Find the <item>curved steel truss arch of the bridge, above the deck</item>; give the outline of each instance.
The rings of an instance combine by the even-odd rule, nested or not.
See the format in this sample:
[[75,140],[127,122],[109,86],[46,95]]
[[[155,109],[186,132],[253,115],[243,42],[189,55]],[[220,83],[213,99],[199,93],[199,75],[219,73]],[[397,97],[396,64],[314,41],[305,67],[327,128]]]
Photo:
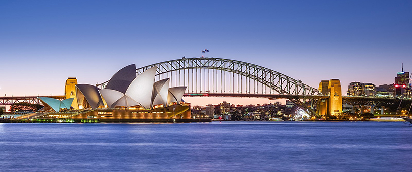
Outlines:
[[285,95],[318,95],[319,91],[299,80],[277,71],[237,60],[222,58],[182,58],[147,65],[136,69],[138,75],[145,70],[157,66],[156,76],[187,69],[214,69],[226,71],[256,80],[279,94]]

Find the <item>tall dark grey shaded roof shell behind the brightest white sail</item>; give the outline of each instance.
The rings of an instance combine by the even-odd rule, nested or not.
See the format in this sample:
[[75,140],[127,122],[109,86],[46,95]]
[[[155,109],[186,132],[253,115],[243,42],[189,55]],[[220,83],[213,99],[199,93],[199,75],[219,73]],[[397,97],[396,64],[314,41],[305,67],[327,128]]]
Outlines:
[[105,89],[126,93],[130,83],[136,78],[136,64],[128,65],[117,71],[107,83]]

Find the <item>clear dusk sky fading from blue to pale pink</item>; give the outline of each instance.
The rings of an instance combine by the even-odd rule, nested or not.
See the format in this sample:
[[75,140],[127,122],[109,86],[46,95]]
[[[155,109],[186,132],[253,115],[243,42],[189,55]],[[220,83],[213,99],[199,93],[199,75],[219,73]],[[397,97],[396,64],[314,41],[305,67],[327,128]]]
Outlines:
[[204,49],[314,88],[337,78],[345,94],[352,81],[393,83],[402,62],[412,71],[410,9],[412,1],[2,1],[0,95],[63,95],[68,77],[101,83],[129,64]]

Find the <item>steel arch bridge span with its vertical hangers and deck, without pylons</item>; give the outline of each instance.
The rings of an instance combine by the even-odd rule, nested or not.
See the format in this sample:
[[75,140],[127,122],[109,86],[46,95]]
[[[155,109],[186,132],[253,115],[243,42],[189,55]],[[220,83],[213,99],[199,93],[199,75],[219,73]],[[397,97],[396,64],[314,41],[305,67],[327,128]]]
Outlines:
[[[287,98],[312,115],[319,91],[277,71],[237,60],[182,58],[136,69],[141,74],[157,66],[156,80],[170,78],[172,87],[187,86],[185,96]],[[102,89],[108,81],[97,84]],[[312,100],[306,105],[306,100]],[[309,107],[308,107],[309,106]]]

